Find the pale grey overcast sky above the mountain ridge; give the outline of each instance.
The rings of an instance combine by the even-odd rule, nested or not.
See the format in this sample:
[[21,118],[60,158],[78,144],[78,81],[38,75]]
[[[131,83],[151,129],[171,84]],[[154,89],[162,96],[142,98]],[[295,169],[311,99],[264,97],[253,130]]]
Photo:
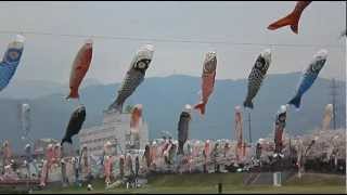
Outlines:
[[[275,44],[331,44],[321,75],[346,76],[346,2],[312,2],[303,13],[299,35],[288,27],[267,26],[286,15],[296,2],[0,2],[0,31],[97,35]],[[72,62],[86,38],[24,34],[27,38],[14,79],[67,83]],[[3,53],[11,34],[0,34]],[[216,50],[217,79],[248,76],[266,46],[204,44],[94,39],[87,78],[104,83],[124,78],[136,50],[153,43],[154,58],[146,77],[172,74],[200,76],[204,53]],[[273,47],[269,74],[300,72],[321,49]]]

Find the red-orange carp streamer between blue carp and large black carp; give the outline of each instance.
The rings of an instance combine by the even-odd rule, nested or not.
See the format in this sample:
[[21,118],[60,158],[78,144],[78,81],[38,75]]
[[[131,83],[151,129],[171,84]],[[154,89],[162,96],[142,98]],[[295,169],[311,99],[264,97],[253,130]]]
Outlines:
[[79,99],[78,88],[85,78],[93,53],[93,42],[88,39],[85,44],[79,49],[69,77],[69,94],[66,99]]

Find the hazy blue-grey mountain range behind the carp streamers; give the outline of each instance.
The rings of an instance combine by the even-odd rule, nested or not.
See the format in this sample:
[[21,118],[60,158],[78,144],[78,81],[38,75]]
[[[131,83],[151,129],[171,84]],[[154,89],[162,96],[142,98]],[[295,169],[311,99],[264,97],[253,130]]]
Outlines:
[[[285,104],[294,94],[299,73],[269,75],[257,94],[250,112],[252,136],[257,140],[273,131],[274,115],[280,105]],[[215,91],[207,104],[206,115],[201,117],[193,113],[190,138],[196,139],[233,139],[234,107],[242,105],[246,93],[246,79],[217,80]],[[331,81],[318,78],[313,87],[304,95],[300,110],[291,107],[286,132],[301,134],[321,125],[324,106],[331,103]],[[338,127],[345,123],[346,83],[338,81]],[[80,90],[80,102],[87,107],[87,120],[83,127],[100,125],[102,110],[115,99],[119,84],[94,84]],[[190,76],[169,76],[146,78],[126,104],[143,104],[144,119],[149,122],[150,138],[157,138],[160,131],[169,131],[177,136],[177,123],[184,104],[195,104],[200,100],[201,78]],[[65,132],[69,116],[77,105],[75,101],[66,102],[64,93],[54,93],[29,100],[33,110],[34,138],[61,139]],[[21,100],[0,99],[0,141],[9,138],[16,145],[21,134],[18,110]],[[248,139],[247,110],[244,112],[244,138]]]

